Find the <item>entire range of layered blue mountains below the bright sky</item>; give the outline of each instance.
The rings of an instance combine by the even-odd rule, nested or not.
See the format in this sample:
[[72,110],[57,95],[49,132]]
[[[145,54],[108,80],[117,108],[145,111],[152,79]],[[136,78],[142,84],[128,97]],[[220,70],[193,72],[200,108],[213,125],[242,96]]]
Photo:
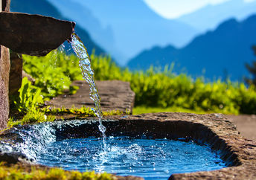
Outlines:
[[[256,12],[255,4],[229,0],[174,20],[162,18],[143,0],[12,0],[11,10],[77,22],[89,54],[93,49],[110,54],[120,65],[130,60],[131,69],[174,62],[176,72],[240,80],[256,44],[255,18],[245,19]],[[238,21],[223,22],[231,16]]]

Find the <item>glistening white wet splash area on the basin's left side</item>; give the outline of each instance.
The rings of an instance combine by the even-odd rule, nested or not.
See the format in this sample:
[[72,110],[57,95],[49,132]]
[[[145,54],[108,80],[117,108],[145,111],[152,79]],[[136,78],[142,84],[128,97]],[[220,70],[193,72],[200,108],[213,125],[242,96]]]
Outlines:
[[9,130],[7,139],[1,138],[0,152],[25,155],[35,161],[37,155],[45,152],[48,144],[56,141],[54,124],[47,122],[13,127]]

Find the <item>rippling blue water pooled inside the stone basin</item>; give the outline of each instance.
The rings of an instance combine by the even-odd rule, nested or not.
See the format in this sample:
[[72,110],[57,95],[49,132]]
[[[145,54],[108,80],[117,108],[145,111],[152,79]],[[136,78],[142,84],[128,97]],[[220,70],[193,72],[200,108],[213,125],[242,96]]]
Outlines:
[[119,176],[168,179],[173,173],[219,170],[225,167],[207,146],[167,139],[106,138],[106,149],[98,138],[55,141],[37,156],[39,164],[65,170],[95,170]]

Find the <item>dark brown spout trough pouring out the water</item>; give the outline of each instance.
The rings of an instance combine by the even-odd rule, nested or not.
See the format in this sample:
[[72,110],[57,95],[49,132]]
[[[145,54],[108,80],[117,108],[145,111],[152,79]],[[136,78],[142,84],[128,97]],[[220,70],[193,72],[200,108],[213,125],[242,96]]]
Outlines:
[[0,13],[0,45],[19,54],[45,56],[71,39],[74,22],[27,13]]

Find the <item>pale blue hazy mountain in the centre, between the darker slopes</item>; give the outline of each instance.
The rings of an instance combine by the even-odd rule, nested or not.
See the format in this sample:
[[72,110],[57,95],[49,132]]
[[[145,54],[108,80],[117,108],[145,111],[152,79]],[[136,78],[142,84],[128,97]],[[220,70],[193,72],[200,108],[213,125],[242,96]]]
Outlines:
[[[198,33],[183,22],[164,19],[143,0],[48,1],[68,18],[81,22],[95,42],[121,65],[145,48],[167,44],[181,47]],[[90,21],[90,18],[97,20]],[[99,22],[97,28],[95,22]]]

